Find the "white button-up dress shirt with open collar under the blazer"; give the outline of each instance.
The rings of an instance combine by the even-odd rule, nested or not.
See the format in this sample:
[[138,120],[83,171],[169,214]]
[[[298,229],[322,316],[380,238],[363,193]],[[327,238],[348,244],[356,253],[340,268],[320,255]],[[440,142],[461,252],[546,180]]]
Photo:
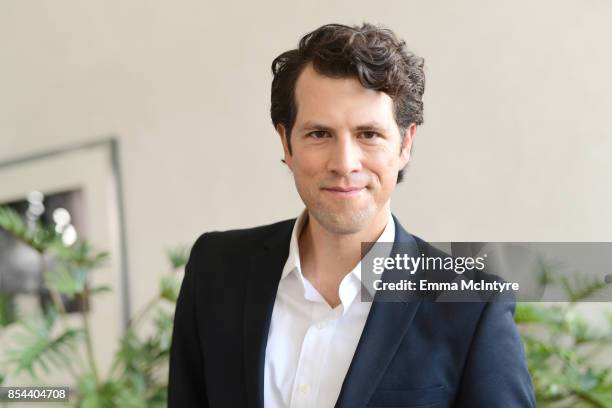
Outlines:
[[[361,302],[361,264],[340,282],[332,308],[304,277],[298,237],[308,212],[296,220],[274,302],[264,367],[266,408],[333,407],[340,395],[371,302]],[[377,242],[393,242],[389,212]]]

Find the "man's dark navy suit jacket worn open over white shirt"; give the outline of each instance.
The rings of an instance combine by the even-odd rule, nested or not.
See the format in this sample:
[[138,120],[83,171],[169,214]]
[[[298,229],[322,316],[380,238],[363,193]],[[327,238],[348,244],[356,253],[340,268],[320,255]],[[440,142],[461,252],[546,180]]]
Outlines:
[[[437,251],[394,220],[396,242]],[[198,238],[176,305],[169,407],[263,407],[267,334],[294,222]],[[375,301],[336,406],[535,407],[513,315],[514,302]]]

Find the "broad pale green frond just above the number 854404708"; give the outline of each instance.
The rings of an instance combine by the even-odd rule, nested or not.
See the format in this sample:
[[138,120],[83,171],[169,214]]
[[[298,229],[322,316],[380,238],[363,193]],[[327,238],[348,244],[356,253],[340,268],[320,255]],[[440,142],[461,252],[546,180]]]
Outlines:
[[52,331],[57,313],[23,320],[20,331],[14,335],[15,346],[6,351],[7,362],[15,367],[15,373],[27,371],[36,378],[36,371],[49,372],[51,368],[63,369],[71,364],[76,345],[83,331],[66,329],[57,336]]

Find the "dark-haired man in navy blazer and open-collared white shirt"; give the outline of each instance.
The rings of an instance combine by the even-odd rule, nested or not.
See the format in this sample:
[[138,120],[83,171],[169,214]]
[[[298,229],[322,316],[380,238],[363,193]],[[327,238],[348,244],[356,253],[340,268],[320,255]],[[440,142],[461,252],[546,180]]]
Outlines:
[[535,406],[513,303],[361,301],[361,243],[437,253],[390,211],[423,121],[423,60],[387,29],[330,24],[272,71],[306,209],[196,241],[169,406]]

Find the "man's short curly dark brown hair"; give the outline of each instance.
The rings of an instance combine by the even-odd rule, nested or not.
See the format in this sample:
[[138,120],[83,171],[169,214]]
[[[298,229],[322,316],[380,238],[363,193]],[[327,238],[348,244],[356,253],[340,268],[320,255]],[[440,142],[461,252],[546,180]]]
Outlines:
[[[368,23],[352,27],[326,24],[302,37],[297,49],[283,52],[272,61],[270,115],[275,127],[285,127],[290,154],[291,130],[297,116],[295,84],[309,63],[321,75],[355,77],[363,87],[388,94],[402,141],[411,123],[423,123],[423,58],[409,51],[388,28]],[[400,170],[397,182],[402,178]]]

